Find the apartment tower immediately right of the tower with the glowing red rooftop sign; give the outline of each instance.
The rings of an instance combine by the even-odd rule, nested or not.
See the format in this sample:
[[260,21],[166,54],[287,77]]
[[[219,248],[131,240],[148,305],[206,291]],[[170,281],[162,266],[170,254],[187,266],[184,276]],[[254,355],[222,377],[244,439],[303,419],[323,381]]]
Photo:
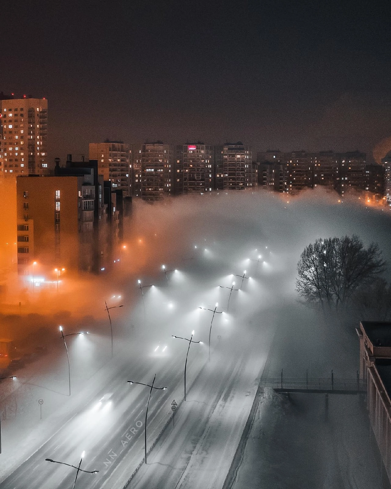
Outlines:
[[249,190],[257,186],[257,168],[252,162],[252,151],[241,142],[223,146],[223,189]]

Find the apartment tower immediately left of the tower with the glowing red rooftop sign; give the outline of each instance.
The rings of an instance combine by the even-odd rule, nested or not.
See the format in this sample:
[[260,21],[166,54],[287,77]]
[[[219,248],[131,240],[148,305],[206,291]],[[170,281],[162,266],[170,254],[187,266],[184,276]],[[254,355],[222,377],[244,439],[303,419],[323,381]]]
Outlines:
[[174,147],[161,141],[141,148],[141,198],[161,200],[174,193]]

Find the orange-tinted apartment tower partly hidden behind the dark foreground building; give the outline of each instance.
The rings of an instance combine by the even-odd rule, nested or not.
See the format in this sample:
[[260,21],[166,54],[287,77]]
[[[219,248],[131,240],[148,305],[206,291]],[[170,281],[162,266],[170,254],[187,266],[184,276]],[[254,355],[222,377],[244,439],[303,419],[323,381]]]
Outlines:
[[89,159],[98,160],[99,175],[111,182],[111,187],[130,196],[129,144],[123,141],[106,140],[104,143],[89,143]]

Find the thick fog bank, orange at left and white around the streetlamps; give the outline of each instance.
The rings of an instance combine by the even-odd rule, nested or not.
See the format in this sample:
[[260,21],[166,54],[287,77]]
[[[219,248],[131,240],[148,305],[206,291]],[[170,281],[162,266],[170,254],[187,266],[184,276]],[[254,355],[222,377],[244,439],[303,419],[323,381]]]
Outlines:
[[[45,344],[54,352],[61,346],[59,324],[67,333],[88,331],[87,348],[80,350],[84,356],[77,357],[76,343],[71,347],[72,370],[78,372],[72,382],[79,389],[110,359],[105,301],[109,308],[123,306],[110,310],[115,361],[134,368],[137,358],[145,372],[162,359],[174,372],[186,345],[172,335],[189,338],[192,330],[194,339],[204,342],[198,363],[192,357],[201,365],[212,312],[199,308],[213,310],[218,303],[222,313],[213,320],[212,356],[249,352],[259,361],[258,380],[278,376],[281,369],[287,377],[303,376],[306,369],[327,377],[333,369],[336,377],[354,378],[358,318],[324,317],[305,306],[295,290],[296,266],[304,247],[317,238],[353,234],[366,245],[377,242],[389,261],[391,215],[355,199],[338,200],[322,190],[289,198],[257,191],[183,196],[153,205],[134,200],[120,243],[126,246],[121,266],[100,277],[65,274],[58,294],[15,285],[1,305],[0,337],[21,346]],[[17,284],[15,271],[8,270],[8,277]],[[390,280],[390,269],[385,277]],[[63,355],[50,362],[63,362],[58,356]],[[47,363],[39,368],[46,375]]]

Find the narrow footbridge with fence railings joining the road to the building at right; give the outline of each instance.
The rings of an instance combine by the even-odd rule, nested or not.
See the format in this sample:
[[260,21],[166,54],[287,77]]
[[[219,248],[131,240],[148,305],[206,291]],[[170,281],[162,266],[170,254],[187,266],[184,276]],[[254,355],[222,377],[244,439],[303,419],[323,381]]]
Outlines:
[[260,387],[275,392],[304,394],[361,394],[367,392],[367,382],[356,378],[271,377],[261,378]]

